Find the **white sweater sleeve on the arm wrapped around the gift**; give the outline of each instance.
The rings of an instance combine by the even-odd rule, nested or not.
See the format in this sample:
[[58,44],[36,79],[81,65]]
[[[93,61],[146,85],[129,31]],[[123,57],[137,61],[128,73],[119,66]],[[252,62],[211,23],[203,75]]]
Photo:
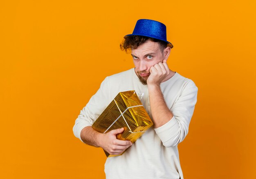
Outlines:
[[97,93],[91,97],[88,104],[80,111],[76,118],[73,133],[81,141],[81,130],[87,126],[92,126],[94,121],[99,117],[103,110],[108,106],[109,92],[108,92],[108,77],[101,83]]

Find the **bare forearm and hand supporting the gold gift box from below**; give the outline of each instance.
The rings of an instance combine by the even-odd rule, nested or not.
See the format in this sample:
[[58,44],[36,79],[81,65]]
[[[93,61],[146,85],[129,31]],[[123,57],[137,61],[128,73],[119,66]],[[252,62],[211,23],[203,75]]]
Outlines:
[[111,155],[119,155],[132,145],[131,141],[117,139],[116,135],[123,131],[124,128],[119,128],[102,134],[94,130],[91,126],[87,126],[81,131],[81,139],[88,145],[103,148]]

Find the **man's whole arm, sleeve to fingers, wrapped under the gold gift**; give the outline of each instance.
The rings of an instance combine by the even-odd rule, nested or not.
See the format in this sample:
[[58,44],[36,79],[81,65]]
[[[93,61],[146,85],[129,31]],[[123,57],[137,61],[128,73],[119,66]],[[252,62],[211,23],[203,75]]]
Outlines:
[[84,143],[101,147],[111,155],[118,155],[132,145],[130,141],[122,141],[116,138],[116,135],[122,133],[124,129],[111,130],[102,134],[92,128],[94,121],[111,100],[108,91],[108,78],[106,78],[101,83],[97,93],[91,97],[88,104],[81,110],[73,127],[73,132]]

